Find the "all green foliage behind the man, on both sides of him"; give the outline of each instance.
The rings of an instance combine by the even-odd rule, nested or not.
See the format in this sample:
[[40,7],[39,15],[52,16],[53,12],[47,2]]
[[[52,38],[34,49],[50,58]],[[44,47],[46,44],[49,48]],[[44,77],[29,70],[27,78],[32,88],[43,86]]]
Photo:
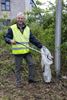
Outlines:
[[[38,3],[40,5],[40,3]],[[32,12],[27,13],[27,25],[30,26],[32,33],[40,40],[40,42],[45,45],[54,56],[55,52],[55,15],[56,15],[56,6],[51,4],[51,7],[46,10],[42,10],[40,8],[34,7]],[[67,12],[66,12],[66,5],[63,4],[63,11],[62,11],[62,37],[61,37],[61,57],[62,57],[62,67],[67,66]],[[9,51],[10,46],[5,43],[4,35],[9,26],[3,25],[6,19],[5,17],[0,19],[0,55],[3,51]],[[11,21],[10,25],[15,23],[16,20],[14,19]],[[2,51],[3,49],[3,51]],[[37,53],[33,53],[39,55]],[[38,59],[39,60],[39,59]],[[38,62],[38,61],[37,61]]]

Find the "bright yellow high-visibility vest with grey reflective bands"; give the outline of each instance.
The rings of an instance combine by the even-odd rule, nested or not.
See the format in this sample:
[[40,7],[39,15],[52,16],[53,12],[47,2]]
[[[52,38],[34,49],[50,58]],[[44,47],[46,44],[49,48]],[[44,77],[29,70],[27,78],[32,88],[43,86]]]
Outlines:
[[[23,33],[17,28],[17,25],[14,24],[11,26],[13,31],[13,39],[21,44],[13,44],[12,45],[12,54],[26,54],[29,52],[29,37],[30,37],[30,29],[28,26],[24,29]],[[25,46],[24,46],[25,45]]]

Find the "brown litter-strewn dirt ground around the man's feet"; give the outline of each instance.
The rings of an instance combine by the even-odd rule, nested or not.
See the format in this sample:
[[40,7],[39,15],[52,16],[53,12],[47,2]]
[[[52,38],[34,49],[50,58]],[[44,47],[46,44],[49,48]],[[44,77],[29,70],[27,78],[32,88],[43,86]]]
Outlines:
[[11,60],[7,54],[0,55],[0,100],[67,100],[67,79],[57,80],[52,76],[52,82],[47,84],[42,80],[41,71],[37,74],[37,83],[29,84],[26,78],[22,80],[23,87],[17,88],[12,71],[2,76]]

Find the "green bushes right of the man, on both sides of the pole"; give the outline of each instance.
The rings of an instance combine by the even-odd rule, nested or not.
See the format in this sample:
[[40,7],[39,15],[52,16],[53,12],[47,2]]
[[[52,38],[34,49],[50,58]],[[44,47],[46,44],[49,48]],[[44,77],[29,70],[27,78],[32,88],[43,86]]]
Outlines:
[[[61,28],[61,62],[62,67],[67,64],[67,7],[63,2],[62,9],[62,28]],[[31,27],[32,32],[36,37],[51,50],[55,52],[55,16],[56,6],[51,4],[51,7],[46,10],[34,8],[31,13],[28,13],[27,24]]]

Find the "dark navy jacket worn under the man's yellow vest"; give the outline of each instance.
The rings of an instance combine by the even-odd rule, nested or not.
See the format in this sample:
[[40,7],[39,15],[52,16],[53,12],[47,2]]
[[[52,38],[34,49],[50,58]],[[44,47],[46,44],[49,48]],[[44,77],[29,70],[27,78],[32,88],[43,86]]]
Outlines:
[[[19,26],[17,25],[17,28],[23,32],[23,30],[25,29],[26,25],[23,25],[22,30],[20,30]],[[5,35],[5,41],[8,44],[10,43],[10,40],[13,39],[13,31],[11,28],[8,29],[6,35]],[[30,43],[32,43],[33,45],[37,46],[38,48],[42,48],[42,44],[35,38],[35,36],[32,34],[32,32],[30,31],[30,38],[29,38]]]

